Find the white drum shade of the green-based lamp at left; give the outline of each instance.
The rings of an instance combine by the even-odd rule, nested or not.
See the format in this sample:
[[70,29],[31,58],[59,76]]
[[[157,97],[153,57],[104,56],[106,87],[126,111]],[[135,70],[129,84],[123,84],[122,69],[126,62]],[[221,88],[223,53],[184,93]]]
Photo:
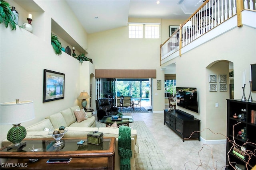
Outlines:
[[0,124],[11,125],[35,118],[33,101],[6,102],[0,104]]

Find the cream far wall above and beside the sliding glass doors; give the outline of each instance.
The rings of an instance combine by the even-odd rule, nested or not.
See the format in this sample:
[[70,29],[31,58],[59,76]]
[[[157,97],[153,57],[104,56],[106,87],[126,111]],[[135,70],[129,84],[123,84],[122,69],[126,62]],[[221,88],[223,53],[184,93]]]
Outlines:
[[[158,22],[149,20],[140,22]],[[134,22],[134,20],[132,20]],[[153,111],[164,109],[164,72],[160,70],[160,39],[129,39],[128,26],[88,35],[95,69],[156,69],[153,79]],[[156,80],[162,80],[162,90],[156,90]]]

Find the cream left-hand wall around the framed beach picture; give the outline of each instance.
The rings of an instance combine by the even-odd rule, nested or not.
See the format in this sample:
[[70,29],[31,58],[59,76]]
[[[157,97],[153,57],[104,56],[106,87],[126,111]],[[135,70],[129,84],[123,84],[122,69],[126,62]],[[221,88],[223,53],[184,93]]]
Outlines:
[[[32,13],[32,26],[33,23],[35,25],[33,33],[20,27],[11,31],[10,27],[6,29],[4,24],[0,24],[0,103],[15,99],[33,100],[36,118],[22,123],[24,127],[80,102],[76,99],[80,94],[80,63],[66,53],[62,55],[54,53],[50,42],[51,18],[54,18],[82,46],[87,46],[87,33],[74,18],[65,1],[55,1],[54,5],[52,1],[35,1],[45,12],[28,12],[15,2],[8,1],[20,14],[19,25],[25,22],[23,18],[27,18],[28,13]],[[70,17],[71,21],[63,20],[66,17]],[[38,28],[36,22],[40,23],[40,21],[43,24]],[[64,99],[42,102],[43,69],[65,74]],[[11,127],[12,125],[0,126],[0,141],[6,139]]]

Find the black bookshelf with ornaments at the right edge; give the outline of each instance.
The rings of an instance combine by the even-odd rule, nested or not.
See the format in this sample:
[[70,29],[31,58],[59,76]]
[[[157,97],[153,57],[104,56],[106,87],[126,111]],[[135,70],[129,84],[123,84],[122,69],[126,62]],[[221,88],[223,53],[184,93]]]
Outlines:
[[[246,109],[246,112],[243,112],[242,109]],[[230,139],[230,141],[227,140],[226,143],[226,170],[233,170],[233,167],[235,167],[236,164],[244,165],[244,170],[251,170],[252,167],[256,165],[255,155],[250,154],[249,160],[249,156],[245,154],[245,160],[243,160],[239,156],[236,156],[234,153],[232,153],[234,143],[238,149],[243,146],[246,148],[246,150],[250,150],[255,153],[254,150],[256,150],[256,124],[251,123],[252,110],[256,110],[256,101],[248,102],[231,99],[227,100],[227,137]],[[234,118],[233,115],[235,113],[236,115],[244,113],[246,119],[242,120],[239,118]],[[242,139],[242,137],[238,136],[238,131],[241,131],[241,129],[244,128],[246,128],[245,139]],[[248,143],[247,141],[250,143]],[[248,164],[246,164],[246,162],[248,162]]]

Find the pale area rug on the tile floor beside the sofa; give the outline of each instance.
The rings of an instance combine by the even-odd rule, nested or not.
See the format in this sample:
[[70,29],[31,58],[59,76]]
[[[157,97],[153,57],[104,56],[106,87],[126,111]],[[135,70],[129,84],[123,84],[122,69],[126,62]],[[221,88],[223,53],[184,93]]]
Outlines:
[[[96,127],[105,127],[105,124],[97,121]],[[140,148],[140,154],[135,158],[136,170],[172,170],[144,121],[134,121],[130,123],[130,127],[137,130]]]

